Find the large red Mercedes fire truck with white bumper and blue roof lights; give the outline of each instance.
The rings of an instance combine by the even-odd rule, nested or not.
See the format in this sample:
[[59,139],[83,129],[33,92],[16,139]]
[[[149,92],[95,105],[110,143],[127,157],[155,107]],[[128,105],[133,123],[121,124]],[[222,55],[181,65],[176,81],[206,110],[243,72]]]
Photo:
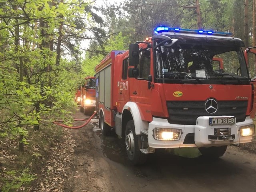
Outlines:
[[102,134],[124,138],[132,164],[163,148],[218,158],[251,142],[256,96],[243,47],[230,33],[161,26],[111,51],[95,68]]

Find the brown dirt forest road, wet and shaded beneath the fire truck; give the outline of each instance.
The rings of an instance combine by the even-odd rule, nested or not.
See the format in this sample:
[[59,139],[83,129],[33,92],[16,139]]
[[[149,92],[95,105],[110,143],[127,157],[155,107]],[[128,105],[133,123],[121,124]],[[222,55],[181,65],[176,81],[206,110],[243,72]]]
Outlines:
[[[86,118],[77,112],[76,118]],[[144,166],[132,166],[124,140],[104,137],[94,120],[71,130],[76,146],[71,158],[65,192],[254,192],[256,155],[228,147],[225,156],[209,161],[166,152],[151,154]],[[193,153],[196,154],[196,153]],[[198,153],[199,154],[199,153]]]

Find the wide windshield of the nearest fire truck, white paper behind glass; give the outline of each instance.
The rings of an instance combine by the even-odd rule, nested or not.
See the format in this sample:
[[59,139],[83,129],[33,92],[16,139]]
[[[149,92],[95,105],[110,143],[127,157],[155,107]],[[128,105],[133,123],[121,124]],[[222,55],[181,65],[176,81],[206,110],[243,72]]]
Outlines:
[[156,82],[248,83],[240,47],[177,43],[171,47],[156,46],[154,57]]

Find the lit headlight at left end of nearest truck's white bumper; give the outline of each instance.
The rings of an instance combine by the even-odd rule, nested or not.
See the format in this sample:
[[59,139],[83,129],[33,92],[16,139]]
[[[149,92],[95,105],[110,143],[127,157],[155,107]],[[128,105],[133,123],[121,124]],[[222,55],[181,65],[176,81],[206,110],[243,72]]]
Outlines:
[[154,128],[154,139],[161,141],[176,141],[180,139],[181,129]]

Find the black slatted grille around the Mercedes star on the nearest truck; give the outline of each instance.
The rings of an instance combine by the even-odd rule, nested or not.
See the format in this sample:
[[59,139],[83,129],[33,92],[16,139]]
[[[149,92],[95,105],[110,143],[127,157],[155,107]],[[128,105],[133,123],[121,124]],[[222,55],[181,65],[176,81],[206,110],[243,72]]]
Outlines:
[[248,101],[218,101],[215,114],[208,114],[205,101],[167,101],[169,123],[195,125],[199,116],[234,116],[236,122],[243,122],[246,118]]

